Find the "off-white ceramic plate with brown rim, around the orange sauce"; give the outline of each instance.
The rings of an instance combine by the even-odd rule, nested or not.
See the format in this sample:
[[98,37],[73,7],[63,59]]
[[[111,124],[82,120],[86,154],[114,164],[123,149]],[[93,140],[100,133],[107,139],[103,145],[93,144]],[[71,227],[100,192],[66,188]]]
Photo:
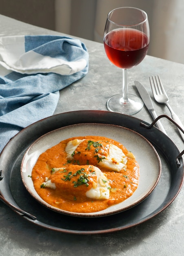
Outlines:
[[[37,162],[39,155],[64,139],[90,135],[105,136],[107,138],[114,139],[123,144],[135,155],[136,161],[140,165],[140,180],[138,188],[134,194],[125,201],[111,206],[103,211],[94,213],[74,213],[51,206],[40,198],[35,191],[32,179],[30,178],[33,166]],[[111,124],[74,124],[48,132],[37,139],[28,148],[24,154],[21,164],[22,181],[27,191],[33,196],[33,198],[49,209],[59,213],[80,217],[107,216],[134,207],[136,204],[147,198],[147,196],[153,191],[159,181],[160,174],[160,157],[150,142],[133,130]]]

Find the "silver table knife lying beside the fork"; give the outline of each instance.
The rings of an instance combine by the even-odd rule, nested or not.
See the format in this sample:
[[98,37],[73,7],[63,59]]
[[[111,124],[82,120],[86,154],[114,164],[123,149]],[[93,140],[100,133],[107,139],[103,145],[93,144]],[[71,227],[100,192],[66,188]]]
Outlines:
[[[140,97],[142,98],[142,101],[145,103],[145,106],[147,107],[151,117],[153,118],[153,120],[156,119],[158,116],[156,115],[156,112],[154,110],[153,103],[151,101],[151,97],[149,96],[148,91],[146,90],[144,85],[142,85],[138,81],[134,81],[134,83],[135,83],[136,88],[140,94]],[[162,126],[160,120],[158,120],[156,122],[155,126],[166,134],[166,131],[165,131],[164,127]]]

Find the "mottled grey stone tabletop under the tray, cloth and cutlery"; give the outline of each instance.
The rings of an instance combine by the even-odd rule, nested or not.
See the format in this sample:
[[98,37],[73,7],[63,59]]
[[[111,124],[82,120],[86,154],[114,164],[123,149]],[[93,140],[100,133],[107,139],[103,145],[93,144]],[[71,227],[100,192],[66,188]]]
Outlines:
[[[0,15],[0,36],[58,34]],[[107,99],[121,92],[122,72],[110,63],[101,43],[81,39],[88,48],[88,74],[61,90],[55,114],[73,110],[107,110]],[[128,71],[129,92],[138,93],[134,80],[149,91],[149,76],[159,74],[173,110],[184,124],[184,65],[146,56],[137,67]],[[158,115],[170,116],[164,105],[153,102]],[[151,123],[145,108],[134,115]],[[162,124],[179,150],[184,143],[177,129],[167,119]],[[0,255],[184,255],[184,188],[177,198],[160,214],[122,231],[109,234],[74,235],[56,232],[27,222],[0,201]]]

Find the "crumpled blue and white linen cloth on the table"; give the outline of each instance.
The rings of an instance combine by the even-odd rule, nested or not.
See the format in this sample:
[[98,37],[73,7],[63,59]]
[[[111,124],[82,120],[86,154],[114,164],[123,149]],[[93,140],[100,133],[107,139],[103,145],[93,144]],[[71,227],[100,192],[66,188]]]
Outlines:
[[0,152],[22,128],[53,115],[59,90],[87,74],[88,57],[69,37],[0,38]]

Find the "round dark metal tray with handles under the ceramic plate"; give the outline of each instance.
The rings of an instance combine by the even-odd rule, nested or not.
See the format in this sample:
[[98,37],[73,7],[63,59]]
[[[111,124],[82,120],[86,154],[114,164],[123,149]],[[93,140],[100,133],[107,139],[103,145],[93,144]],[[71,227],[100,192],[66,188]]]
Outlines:
[[[156,148],[162,162],[162,174],[156,188],[143,202],[115,216],[81,218],[51,211],[26,191],[20,176],[20,164],[27,148],[47,132],[81,123],[115,124],[129,128]],[[99,110],[66,112],[37,121],[13,137],[0,155],[0,200],[29,222],[64,233],[103,234],[141,224],[168,207],[184,181],[183,152],[180,153],[173,141],[153,124],[149,126],[135,117]]]

